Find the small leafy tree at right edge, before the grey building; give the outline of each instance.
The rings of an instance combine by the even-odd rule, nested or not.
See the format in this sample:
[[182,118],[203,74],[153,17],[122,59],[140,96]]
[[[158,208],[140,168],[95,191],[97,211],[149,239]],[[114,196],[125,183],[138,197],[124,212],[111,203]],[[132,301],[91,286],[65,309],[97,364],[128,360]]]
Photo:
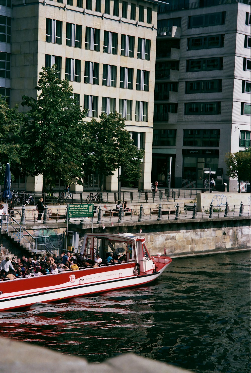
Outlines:
[[226,174],[231,179],[238,179],[240,192],[240,182],[250,182],[250,148],[236,153],[227,153],[225,163]]

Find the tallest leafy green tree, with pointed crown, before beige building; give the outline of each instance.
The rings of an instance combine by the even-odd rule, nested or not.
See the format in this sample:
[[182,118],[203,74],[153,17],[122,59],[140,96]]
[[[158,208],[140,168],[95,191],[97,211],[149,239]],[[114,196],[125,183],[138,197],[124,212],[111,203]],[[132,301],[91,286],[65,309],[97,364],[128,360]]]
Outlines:
[[29,157],[23,160],[26,173],[43,175],[45,185],[55,186],[57,179],[70,184],[81,178],[83,117],[73,99],[68,80],[58,78],[56,65],[42,68],[39,73],[37,99],[23,96],[22,106],[28,106],[29,118],[22,131],[23,140],[29,141]]

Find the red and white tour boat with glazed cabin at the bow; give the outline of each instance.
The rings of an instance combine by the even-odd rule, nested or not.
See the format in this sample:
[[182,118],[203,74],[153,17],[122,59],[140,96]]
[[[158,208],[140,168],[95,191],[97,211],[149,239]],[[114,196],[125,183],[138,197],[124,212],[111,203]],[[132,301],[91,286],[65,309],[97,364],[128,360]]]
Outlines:
[[4,279],[0,281],[0,311],[144,285],[155,280],[172,261],[169,257],[151,257],[144,238],[130,233],[87,233],[83,253],[92,260],[96,254],[102,259],[109,253],[125,257],[121,262],[55,275]]

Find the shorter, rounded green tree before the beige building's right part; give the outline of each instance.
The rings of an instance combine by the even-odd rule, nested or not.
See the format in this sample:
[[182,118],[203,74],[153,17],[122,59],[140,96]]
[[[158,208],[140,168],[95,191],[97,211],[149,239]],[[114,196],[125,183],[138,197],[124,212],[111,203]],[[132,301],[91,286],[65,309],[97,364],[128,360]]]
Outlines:
[[143,150],[133,144],[130,133],[124,129],[125,120],[117,112],[102,113],[100,121],[93,118],[85,127],[83,141],[83,169],[85,174],[99,172],[100,190],[103,190],[104,177],[113,175],[123,166],[121,181],[131,185],[141,176]]

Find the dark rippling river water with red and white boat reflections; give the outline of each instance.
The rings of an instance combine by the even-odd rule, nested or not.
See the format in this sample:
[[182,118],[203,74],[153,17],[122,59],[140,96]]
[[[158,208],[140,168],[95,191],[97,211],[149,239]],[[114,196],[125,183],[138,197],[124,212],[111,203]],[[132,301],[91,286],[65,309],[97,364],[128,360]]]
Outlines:
[[101,362],[124,352],[249,373],[250,252],[174,259],[152,285],[0,313],[0,336]]

